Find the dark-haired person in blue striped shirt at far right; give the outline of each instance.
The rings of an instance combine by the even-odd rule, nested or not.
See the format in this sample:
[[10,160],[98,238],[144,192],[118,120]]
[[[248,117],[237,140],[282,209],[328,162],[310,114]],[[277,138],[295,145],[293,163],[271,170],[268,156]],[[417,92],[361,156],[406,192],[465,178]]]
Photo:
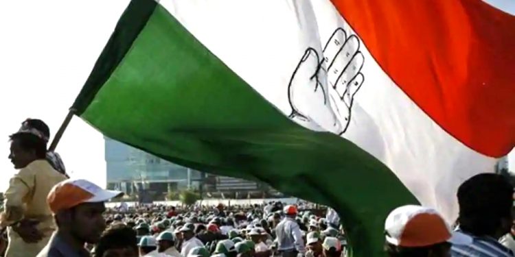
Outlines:
[[499,238],[510,232],[513,223],[514,190],[507,178],[494,173],[481,173],[458,188],[458,226],[451,255],[512,257],[512,250]]

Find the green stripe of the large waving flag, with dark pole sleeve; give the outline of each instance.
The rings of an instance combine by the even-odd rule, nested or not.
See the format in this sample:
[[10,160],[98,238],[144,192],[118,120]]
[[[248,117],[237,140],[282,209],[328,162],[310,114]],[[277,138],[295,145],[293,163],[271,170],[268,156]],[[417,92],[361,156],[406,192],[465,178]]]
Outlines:
[[73,108],[165,160],[334,207],[356,256],[382,256],[387,213],[416,203],[367,152],[290,121],[152,0],[130,3]]

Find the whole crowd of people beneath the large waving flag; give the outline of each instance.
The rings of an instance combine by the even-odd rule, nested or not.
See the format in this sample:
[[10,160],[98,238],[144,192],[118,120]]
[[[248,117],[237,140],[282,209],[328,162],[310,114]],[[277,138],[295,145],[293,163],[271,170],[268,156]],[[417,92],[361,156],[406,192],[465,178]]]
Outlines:
[[[137,206],[106,209],[122,195],[70,179],[47,151],[49,129],[28,119],[10,136],[10,180],[0,227],[5,257],[341,257],[345,230],[334,210],[304,205]],[[482,173],[457,191],[453,229],[424,206],[400,206],[385,217],[385,255],[514,257],[514,188],[502,175]]]

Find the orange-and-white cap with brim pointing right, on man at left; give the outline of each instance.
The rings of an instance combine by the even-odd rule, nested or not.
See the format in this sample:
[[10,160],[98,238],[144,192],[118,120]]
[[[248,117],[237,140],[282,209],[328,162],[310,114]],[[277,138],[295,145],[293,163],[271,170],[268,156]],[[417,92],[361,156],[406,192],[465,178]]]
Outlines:
[[47,202],[50,210],[57,213],[83,203],[108,201],[123,194],[120,191],[102,189],[88,180],[68,179],[52,188],[47,196]]

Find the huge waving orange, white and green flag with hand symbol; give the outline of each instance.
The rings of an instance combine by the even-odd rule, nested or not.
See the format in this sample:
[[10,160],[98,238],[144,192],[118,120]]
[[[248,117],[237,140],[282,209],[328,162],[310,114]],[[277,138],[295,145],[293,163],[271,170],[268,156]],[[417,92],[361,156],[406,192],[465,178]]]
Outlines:
[[515,144],[515,17],[479,0],[132,1],[73,110],[186,167],[332,206],[354,254]]

